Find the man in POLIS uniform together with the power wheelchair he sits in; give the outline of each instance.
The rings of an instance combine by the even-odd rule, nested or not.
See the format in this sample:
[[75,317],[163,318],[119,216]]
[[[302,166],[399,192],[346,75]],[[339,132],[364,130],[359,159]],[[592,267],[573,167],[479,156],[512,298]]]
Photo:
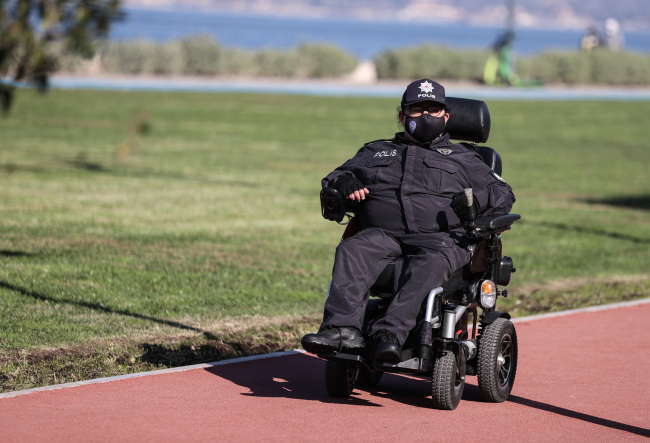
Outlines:
[[422,79],[406,88],[399,120],[403,133],[367,143],[322,181],[323,216],[355,216],[336,250],[321,328],[302,345],[327,360],[334,397],[405,372],[431,376],[436,408],[456,408],[466,375],[485,400],[503,402],[518,351],[509,314],[495,310],[507,296],[497,285],[515,272],[501,234],[520,217],[509,214],[515,197],[501,157],[476,144],[489,136],[487,105]]

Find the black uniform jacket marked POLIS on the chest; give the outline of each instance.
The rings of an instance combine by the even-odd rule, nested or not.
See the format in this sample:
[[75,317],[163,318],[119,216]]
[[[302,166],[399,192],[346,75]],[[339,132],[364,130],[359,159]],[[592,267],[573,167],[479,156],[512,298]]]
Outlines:
[[355,176],[370,194],[355,212],[361,229],[377,227],[394,234],[463,231],[449,204],[453,195],[472,188],[480,215],[507,214],[515,196],[508,184],[478,153],[449,141],[449,134],[421,145],[404,139],[364,145],[322,180],[336,187],[342,176]]

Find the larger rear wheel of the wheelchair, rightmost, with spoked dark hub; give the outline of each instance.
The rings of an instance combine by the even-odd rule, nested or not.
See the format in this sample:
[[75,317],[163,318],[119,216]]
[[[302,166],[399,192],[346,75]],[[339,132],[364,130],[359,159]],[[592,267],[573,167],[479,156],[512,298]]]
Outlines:
[[517,331],[510,320],[499,318],[483,329],[477,361],[481,397],[494,403],[506,401],[517,375]]

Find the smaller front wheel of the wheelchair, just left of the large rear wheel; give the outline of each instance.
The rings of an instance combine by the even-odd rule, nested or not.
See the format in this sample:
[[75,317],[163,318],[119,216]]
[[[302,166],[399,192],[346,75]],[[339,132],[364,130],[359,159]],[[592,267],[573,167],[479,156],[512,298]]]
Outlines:
[[431,379],[433,407],[448,411],[456,409],[464,389],[465,381],[460,379],[456,355],[453,352],[447,352],[436,358]]

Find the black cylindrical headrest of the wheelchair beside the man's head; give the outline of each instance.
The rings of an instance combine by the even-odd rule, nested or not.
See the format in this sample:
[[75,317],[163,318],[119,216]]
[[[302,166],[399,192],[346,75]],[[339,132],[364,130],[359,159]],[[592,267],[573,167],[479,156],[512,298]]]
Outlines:
[[453,140],[485,143],[490,136],[490,111],[481,100],[447,97],[449,121],[445,130]]

